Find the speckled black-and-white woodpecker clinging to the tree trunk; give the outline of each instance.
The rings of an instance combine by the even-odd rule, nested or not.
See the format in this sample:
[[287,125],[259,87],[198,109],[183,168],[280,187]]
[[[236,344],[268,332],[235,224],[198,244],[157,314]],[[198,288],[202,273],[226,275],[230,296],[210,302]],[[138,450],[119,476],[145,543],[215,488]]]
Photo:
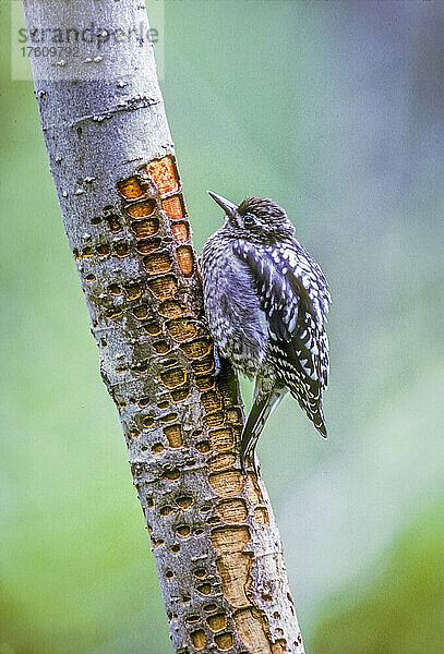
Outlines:
[[255,379],[240,445],[242,470],[245,463],[255,470],[257,439],[288,391],[327,436],[322,391],[328,377],[324,324],[331,294],[278,204],[248,197],[237,206],[208,194],[226,216],[201,258],[206,322],[216,355]]

